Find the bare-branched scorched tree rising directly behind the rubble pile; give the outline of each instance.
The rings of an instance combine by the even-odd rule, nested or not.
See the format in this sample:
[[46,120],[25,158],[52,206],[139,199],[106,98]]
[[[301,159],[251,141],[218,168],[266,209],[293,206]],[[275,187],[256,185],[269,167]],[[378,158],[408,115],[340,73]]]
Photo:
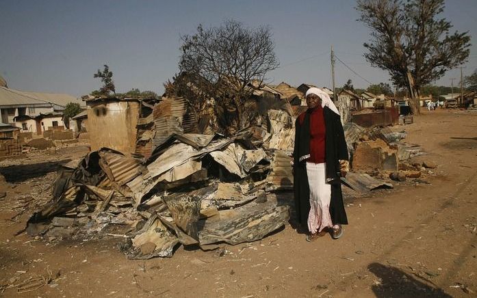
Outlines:
[[222,126],[232,128],[229,133],[243,128],[244,104],[253,92],[248,84],[263,84],[266,74],[279,66],[270,27],[248,28],[227,20],[220,27],[198,25],[194,35],[181,36],[181,40],[179,81],[170,87],[180,87],[178,93],[195,94],[190,100],[214,98],[218,113],[227,119]]

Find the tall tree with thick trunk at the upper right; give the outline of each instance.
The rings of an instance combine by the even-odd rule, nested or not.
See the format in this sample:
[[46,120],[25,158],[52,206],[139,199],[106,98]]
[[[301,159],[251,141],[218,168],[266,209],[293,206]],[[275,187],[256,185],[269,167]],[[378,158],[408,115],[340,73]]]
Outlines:
[[411,111],[420,113],[420,87],[441,78],[469,56],[467,32],[450,33],[443,0],[358,0],[359,21],[371,29],[365,58],[407,87]]

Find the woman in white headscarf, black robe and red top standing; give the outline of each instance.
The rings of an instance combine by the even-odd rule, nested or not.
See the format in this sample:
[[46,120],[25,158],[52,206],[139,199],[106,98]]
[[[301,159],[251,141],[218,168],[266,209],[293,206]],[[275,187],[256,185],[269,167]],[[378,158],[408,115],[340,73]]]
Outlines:
[[341,176],[348,172],[348,148],[339,112],[331,98],[312,87],[308,110],[296,119],[294,195],[298,221],[307,227],[307,241],[331,229],[333,239],[348,224],[341,194]]

